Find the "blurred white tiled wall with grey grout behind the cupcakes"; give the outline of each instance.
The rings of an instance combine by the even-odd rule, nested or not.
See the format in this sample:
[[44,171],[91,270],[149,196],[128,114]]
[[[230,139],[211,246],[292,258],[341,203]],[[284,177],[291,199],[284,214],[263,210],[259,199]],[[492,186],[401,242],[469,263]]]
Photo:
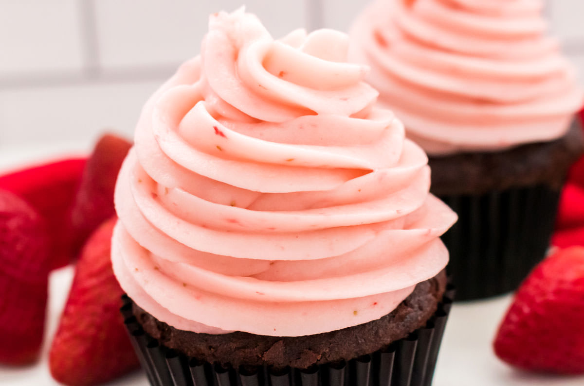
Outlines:
[[[274,37],[346,31],[364,0],[247,0]],[[147,97],[199,52],[207,16],[242,0],[0,0],[0,154],[131,136]],[[552,33],[584,74],[584,0],[548,0]],[[580,76],[580,81],[584,86]]]

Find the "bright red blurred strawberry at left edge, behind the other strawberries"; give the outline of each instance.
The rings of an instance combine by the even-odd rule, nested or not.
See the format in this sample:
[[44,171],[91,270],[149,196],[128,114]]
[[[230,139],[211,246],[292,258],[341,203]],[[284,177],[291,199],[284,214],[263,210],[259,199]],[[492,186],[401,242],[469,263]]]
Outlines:
[[24,198],[49,225],[52,268],[60,268],[71,261],[69,208],[84,167],[85,159],[75,158],[0,176],[0,188]]

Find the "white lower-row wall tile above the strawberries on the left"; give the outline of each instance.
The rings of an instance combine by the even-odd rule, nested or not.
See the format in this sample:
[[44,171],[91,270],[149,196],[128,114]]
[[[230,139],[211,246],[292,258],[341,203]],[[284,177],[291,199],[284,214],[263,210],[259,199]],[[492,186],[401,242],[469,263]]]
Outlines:
[[91,143],[104,131],[131,138],[162,79],[0,91],[0,149],[28,143]]

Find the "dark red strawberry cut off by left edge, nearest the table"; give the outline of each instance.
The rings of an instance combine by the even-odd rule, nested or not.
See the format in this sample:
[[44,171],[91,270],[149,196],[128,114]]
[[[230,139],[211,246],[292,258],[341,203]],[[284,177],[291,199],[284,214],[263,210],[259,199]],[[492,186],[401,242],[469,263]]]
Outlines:
[[44,219],[23,199],[0,190],[0,363],[27,364],[39,355],[49,256]]

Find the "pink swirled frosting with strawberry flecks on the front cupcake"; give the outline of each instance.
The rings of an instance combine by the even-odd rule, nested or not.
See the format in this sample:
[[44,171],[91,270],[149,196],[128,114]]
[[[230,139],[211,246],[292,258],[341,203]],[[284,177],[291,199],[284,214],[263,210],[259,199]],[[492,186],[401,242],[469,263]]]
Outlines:
[[347,45],[211,17],[116,186],[113,267],[139,306],[188,331],[311,335],[391,313],[446,266],[456,215]]

